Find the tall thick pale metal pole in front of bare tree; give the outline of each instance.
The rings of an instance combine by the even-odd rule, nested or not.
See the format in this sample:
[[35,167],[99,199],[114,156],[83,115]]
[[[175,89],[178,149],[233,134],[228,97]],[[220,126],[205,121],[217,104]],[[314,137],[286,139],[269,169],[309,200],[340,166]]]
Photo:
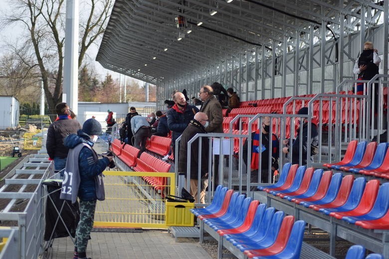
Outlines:
[[66,0],[63,92],[66,103],[78,113],[78,14],[79,0]]

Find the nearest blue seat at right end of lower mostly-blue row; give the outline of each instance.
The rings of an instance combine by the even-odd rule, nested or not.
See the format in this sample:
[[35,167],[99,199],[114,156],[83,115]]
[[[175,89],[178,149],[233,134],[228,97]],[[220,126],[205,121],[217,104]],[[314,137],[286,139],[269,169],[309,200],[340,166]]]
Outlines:
[[304,229],[305,221],[296,221],[293,224],[288,243],[281,253],[273,256],[253,257],[253,259],[299,259],[301,254],[301,247],[303,245]]

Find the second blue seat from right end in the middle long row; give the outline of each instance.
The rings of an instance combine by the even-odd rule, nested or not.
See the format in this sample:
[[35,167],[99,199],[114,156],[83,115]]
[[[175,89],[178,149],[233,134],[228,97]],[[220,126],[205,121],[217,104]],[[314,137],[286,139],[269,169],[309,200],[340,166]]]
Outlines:
[[337,208],[320,209],[319,211],[329,215],[331,212],[342,212],[355,209],[361,201],[362,194],[366,185],[365,177],[358,177],[354,180],[353,187],[351,188],[349,198],[346,203]]

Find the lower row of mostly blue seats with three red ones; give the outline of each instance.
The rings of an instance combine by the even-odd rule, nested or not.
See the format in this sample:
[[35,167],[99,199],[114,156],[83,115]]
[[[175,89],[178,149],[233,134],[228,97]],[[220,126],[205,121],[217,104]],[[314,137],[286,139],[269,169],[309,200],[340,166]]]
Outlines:
[[305,222],[294,222],[294,216],[259,205],[244,194],[218,186],[212,203],[192,212],[249,258],[300,257]]

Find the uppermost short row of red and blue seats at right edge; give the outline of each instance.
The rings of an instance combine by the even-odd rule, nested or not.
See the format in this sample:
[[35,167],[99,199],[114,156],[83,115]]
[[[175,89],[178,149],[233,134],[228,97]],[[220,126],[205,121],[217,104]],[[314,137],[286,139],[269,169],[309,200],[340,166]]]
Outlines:
[[389,143],[352,140],[340,162],[325,163],[325,167],[335,170],[365,174],[389,179]]

